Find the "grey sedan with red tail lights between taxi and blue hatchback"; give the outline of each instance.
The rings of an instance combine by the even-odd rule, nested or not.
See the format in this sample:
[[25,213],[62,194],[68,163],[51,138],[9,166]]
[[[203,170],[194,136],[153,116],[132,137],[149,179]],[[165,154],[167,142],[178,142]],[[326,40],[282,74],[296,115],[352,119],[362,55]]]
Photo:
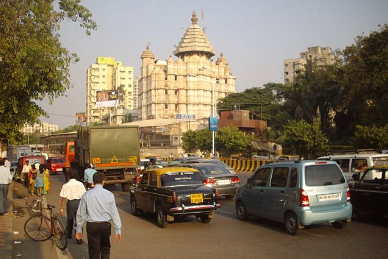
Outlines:
[[200,172],[200,177],[205,185],[215,188],[220,196],[227,199],[233,198],[237,188],[240,187],[240,179],[230,171],[213,163],[183,164]]

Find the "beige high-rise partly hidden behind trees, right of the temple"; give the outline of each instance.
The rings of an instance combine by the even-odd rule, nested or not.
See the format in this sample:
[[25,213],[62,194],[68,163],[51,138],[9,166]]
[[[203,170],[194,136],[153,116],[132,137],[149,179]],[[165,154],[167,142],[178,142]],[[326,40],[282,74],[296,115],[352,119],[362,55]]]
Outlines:
[[284,60],[284,83],[292,83],[294,78],[304,71],[307,61],[311,60],[318,66],[331,65],[335,61],[335,56],[330,47],[310,47],[307,51],[300,53],[300,58]]

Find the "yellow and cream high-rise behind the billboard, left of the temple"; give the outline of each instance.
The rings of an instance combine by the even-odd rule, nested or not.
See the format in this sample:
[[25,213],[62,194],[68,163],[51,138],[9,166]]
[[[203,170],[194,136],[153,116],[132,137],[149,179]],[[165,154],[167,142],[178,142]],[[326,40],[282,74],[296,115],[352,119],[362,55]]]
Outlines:
[[111,107],[97,107],[97,91],[118,90],[121,109],[134,109],[134,68],[123,66],[114,57],[97,57],[86,72],[86,123],[102,122],[105,114],[112,112]]

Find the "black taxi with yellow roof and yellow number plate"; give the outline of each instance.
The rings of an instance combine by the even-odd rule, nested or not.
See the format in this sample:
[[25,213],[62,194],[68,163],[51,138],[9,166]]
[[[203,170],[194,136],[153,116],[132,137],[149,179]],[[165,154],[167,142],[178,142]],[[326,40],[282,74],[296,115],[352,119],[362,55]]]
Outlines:
[[196,169],[184,167],[153,168],[146,170],[130,190],[131,212],[156,214],[157,225],[165,228],[178,216],[196,216],[209,223],[215,211],[218,193],[205,186]]

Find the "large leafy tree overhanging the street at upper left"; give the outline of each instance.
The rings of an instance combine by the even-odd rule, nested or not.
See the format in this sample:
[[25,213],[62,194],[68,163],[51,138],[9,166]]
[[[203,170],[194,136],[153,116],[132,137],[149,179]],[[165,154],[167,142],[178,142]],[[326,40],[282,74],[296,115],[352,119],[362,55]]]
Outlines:
[[[80,0],[4,0],[0,5],[0,141],[15,143],[25,124],[47,113],[36,103],[63,96],[70,87],[69,65],[78,57],[59,40],[64,19],[96,29]],[[55,5],[55,7],[54,7]]]

